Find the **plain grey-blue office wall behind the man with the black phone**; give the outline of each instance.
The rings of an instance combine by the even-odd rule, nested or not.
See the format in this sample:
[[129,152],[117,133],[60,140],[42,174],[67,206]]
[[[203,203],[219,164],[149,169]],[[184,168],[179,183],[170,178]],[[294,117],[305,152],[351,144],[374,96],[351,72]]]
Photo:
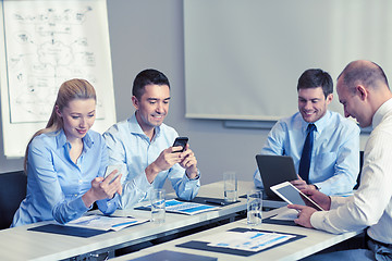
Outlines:
[[[240,179],[252,181],[255,154],[268,130],[225,128],[222,121],[185,119],[182,8],[182,0],[108,1],[118,121],[133,113],[131,87],[134,76],[146,67],[161,70],[172,86],[166,123],[174,126],[180,135],[189,137],[203,175],[201,184],[221,181],[224,171],[235,171]],[[225,99],[224,94],[217,99]],[[235,101],[226,102],[235,107]],[[1,139],[0,146],[0,172],[21,170],[23,160],[5,159]]]

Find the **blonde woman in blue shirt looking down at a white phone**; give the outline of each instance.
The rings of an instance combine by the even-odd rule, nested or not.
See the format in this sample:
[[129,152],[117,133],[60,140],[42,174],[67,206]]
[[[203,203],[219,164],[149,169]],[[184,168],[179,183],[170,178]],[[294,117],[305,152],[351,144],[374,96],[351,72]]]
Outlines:
[[90,129],[96,117],[96,92],[85,79],[63,83],[47,127],[26,148],[27,196],[11,226],[79,217],[94,202],[111,214],[122,192],[121,175],[103,178],[108,152],[100,134]]

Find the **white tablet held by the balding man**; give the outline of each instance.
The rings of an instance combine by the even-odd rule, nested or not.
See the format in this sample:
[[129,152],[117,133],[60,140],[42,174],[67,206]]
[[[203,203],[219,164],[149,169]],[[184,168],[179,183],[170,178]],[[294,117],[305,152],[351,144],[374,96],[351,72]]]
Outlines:
[[271,187],[271,190],[290,204],[310,206],[316,210],[323,211],[320,206],[318,206],[315,201],[313,201],[308,196],[303,194],[290,182],[274,185]]

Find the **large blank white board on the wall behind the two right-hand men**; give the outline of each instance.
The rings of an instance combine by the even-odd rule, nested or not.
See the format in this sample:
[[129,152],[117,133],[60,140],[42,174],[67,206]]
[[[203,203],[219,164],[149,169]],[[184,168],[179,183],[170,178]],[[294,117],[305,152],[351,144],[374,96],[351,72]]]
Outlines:
[[[275,121],[297,111],[308,69],[354,60],[391,79],[390,0],[184,0],[186,117]],[[330,110],[343,113],[334,92]]]

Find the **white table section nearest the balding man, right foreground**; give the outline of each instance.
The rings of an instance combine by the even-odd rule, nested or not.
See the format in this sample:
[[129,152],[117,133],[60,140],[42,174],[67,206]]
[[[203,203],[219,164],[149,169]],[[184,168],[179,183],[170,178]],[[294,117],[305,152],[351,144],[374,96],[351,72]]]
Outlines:
[[[271,210],[268,212],[262,213],[262,217],[269,217],[274,214],[277,214],[280,211],[283,211],[286,209],[285,207],[281,209]],[[229,254],[229,253],[222,253],[222,252],[213,252],[208,250],[197,250],[197,249],[191,249],[191,248],[183,248],[177,247],[179,244],[188,243],[191,240],[199,240],[203,241],[204,237],[208,237],[213,234],[218,234],[221,232],[229,231],[231,228],[235,227],[244,227],[248,228],[246,224],[246,219],[240,220],[236,222],[232,222],[222,226],[218,226],[211,229],[207,229],[200,233],[196,233],[189,236],[181,237],[175,240],[167,241],[154,247],[142,249],[137,252],[124,254],[118,258],[112,259],[113,261],[122,261],[122,260],[133,260],[135,258],[145,257],[149,253],[158,252],[161,250],[170,250],[170,251],[176,251],[176,252],[184,252],[184,253],[192,253],[192,254],[198,254],[198,256],[206,256],[206,257],[213,257],[217,258],[218,261],[252,261],[252,260],[298,260],[305,257],[308,257],[313,253],[316,253],[320,250],[327,249],[331,246],[334,246],[339,243],[342,243],[348,238],[352,238],[362,232],[350,232],[341,235],[334,235],[321,231],[305,228],[301,226],[290,226],[290,225],[277,225],[277,224],[261,224],[256,229],[261,231],[270,231],[270,232],[277,232],[277,233],[290,233],[290,234],[297,234],[303,235],[306,237],[299,238],[294,241],[286,243],[281,246],[277,246],[271,249],[267,249],[265,251],[255,253],[249,257],[242,257],[242,256],[235,256],[235,254]]]

